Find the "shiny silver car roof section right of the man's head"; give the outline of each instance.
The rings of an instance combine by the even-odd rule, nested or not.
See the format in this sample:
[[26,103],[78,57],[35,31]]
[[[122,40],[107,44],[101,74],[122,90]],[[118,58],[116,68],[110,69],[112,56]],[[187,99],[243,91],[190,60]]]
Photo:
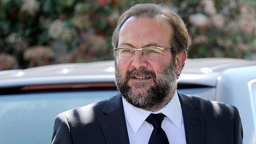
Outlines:
[[256,60],[235,58],[200,58],[188,59],[184,70],[178,79],[178,84],[193,86],[215,87],[217,76],[227,69],[256,65]]

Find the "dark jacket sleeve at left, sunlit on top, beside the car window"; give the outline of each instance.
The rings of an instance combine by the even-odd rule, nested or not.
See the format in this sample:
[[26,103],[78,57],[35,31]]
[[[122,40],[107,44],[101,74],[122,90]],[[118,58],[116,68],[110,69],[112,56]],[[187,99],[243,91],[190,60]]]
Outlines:
[[60,113],[55,119],[53,126],[52,144],[72,144],[71,132],[68,120],[65,115]]

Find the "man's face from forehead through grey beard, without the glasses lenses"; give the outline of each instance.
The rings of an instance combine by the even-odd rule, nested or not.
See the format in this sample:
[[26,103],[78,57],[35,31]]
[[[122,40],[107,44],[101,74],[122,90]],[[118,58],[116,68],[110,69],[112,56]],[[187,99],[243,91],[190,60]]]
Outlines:
[[[163,17],[130,17],[121,27],[118,47],[170,47],[173,30]],[[136,107],[151,110],[170,100],[177,87],[175,57],[164,50],[149,59],[136,51],[133,57],[116,57],[116,85]],[[168,102],[167,102],[168,103]]]

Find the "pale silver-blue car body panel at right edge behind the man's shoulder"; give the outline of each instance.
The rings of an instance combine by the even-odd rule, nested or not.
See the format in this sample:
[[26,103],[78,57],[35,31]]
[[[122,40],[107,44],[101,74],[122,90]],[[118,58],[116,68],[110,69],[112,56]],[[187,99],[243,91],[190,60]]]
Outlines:
[[[238,107],[245,129],[244,143],[256,143],[256,95],[249,95],[248,85],[256,79],[256,66],[226,69],[217,79],[215,100]],[[256,87],[253,90],[256,91]]]

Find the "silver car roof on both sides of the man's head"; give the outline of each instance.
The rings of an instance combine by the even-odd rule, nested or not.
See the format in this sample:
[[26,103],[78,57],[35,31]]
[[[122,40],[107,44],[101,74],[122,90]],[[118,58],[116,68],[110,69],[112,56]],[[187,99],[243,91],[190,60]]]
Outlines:
[[[220,72],[249,65],[256,65],[256,61],[231,58],[188,59],[178,82],[181,85],[214,87]],[[65,63],[0,72],[0,88],[86,82],[114,82],[114,60]]]

